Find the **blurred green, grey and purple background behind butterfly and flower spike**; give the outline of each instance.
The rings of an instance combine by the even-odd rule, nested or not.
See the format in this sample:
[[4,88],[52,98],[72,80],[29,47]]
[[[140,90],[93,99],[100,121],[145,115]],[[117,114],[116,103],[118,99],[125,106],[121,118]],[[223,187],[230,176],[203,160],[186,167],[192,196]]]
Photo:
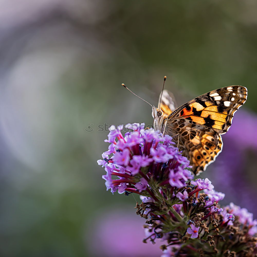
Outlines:
[[121,83],[157,104],[164,75],[179,105],[248,88],[201,177],[257,217],[256,1],[0,2],[0,256],[160,256],[96,161],[98,125],[152,123]]

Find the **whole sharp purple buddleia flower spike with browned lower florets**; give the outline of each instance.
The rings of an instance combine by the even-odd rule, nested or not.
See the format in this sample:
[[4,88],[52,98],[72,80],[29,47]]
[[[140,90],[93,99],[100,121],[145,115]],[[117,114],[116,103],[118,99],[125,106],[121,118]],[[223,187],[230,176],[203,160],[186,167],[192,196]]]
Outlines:
[[257,253],[257,220],[245,208],[221,208],[225,194],[216,192],[208,178],[192,180],[189,161],[171,136],[145,130],[143,123],[126,128],[131,131],[124,136],[123,126],[109,128],[105,142],[110,145],[98,164],[105,168],[107,190],[141,195],[136,214],[146,219],[143,242],[160,238],[163,257],[216,256],[218,249],[222,256]]

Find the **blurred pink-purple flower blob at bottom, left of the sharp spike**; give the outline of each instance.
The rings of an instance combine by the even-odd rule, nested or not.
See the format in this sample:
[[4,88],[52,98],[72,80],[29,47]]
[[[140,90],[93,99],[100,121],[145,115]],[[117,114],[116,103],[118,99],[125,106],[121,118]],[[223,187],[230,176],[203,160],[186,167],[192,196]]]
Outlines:
[[143,243],[145,237],[143,221],[134,216],[129,208],[113,210],[95,219],[93,227],[88,229],[87,247],[95,257],[156,257],[162,254],[156,244]]

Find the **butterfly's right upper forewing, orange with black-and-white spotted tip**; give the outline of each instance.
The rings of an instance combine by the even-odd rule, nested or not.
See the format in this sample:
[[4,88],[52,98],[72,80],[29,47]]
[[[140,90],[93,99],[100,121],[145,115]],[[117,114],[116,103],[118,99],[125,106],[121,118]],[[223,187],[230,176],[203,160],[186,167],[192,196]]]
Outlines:
[[246,98],[245,87],[223,87],[180,106],[167,119],[187,118],[192,124],[204,125],[224,134],[231,126],[234,113],[245,103]]

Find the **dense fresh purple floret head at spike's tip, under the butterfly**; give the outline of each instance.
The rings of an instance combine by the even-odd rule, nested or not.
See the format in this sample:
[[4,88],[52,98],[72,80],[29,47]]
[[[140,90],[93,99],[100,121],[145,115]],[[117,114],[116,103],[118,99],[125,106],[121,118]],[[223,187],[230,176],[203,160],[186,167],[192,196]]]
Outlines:
[[123,126],[109,129],[105,142],[110,145],[102,154],[103,160],[98,160],[106,171],[103,179],[107,190],[141,194],[143,190],[149,191],[149,183],[182,188],[193,178],[187,169],[191,167],[189,161],[173,146],[171,136],[162,137],[158,131],[145,130],[144,123],[127,124],[126,128],[132,131],[124,136]]

